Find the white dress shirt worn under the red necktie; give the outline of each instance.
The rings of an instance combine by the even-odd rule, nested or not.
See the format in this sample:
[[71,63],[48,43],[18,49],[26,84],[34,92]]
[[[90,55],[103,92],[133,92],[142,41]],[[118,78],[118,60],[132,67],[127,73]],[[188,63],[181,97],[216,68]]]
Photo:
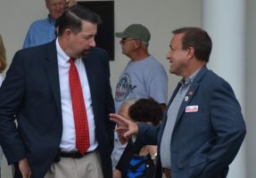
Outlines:
[[[59,79],[62,101],[62,142],[60,148],[62,151],[77,150],[76,131],[73,117],[73,109],[70,96],[70,57],[62,51],[58,38],[56,40],[57,58],[59,68]],[[87,109],[87,122],[90,134],[90,147],[87,151],[95,150],[98,142],[95,140],[95,117],[93,113],[92,98],[87,80],[87,71],[85,64],[81,59],[75,60],[75,66],[78,69],[78,75],[82,86],[84,101]]]

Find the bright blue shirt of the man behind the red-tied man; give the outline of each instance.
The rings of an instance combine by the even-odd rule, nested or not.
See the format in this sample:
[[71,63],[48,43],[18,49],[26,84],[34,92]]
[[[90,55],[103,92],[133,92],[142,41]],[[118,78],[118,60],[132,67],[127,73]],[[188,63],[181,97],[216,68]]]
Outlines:
[[34,21],[28,30],[23,49],[46,44],[55,39],[55,21],[48,17],[44,20]]

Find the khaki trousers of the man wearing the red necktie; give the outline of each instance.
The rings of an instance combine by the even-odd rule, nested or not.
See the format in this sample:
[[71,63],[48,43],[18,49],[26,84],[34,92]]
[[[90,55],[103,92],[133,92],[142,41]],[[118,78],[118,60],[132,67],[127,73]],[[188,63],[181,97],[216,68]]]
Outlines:
[[103,178],[99,152],[82,158],[61,158],[51,166],[45,178]]

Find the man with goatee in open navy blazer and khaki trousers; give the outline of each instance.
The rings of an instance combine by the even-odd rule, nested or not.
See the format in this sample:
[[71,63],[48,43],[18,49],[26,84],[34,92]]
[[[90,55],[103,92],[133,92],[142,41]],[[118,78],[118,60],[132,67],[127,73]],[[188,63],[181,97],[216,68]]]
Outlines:
[[[15,53],[0,89],[0,143],[8,163],[16,164],[16,177],[112,176],[114,102],[109,56],[95,47],[100,21],[95,12],[73,6],[62,15],[56,40]],[[76,148],[70,57],[87,108],[90,147],[84,155]]]

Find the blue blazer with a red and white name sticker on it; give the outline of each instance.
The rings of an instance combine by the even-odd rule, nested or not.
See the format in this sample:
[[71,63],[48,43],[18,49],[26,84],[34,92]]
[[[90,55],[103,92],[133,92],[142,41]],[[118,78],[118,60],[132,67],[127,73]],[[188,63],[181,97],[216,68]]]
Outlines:
[[[241,108],[231,86],[204,67],[194,78],[186,99],[178,110],[171,135],[171,177],[227,177],[228,165],[235,158],[246,133]],[[187,112],[187,106],[198,106],[198,111]],[[160,155],[161,136],[167,119],[165,113],[159,126],[139,125],[136,143],[157,144]],[[160,156],[155,177],[161,177]]]

